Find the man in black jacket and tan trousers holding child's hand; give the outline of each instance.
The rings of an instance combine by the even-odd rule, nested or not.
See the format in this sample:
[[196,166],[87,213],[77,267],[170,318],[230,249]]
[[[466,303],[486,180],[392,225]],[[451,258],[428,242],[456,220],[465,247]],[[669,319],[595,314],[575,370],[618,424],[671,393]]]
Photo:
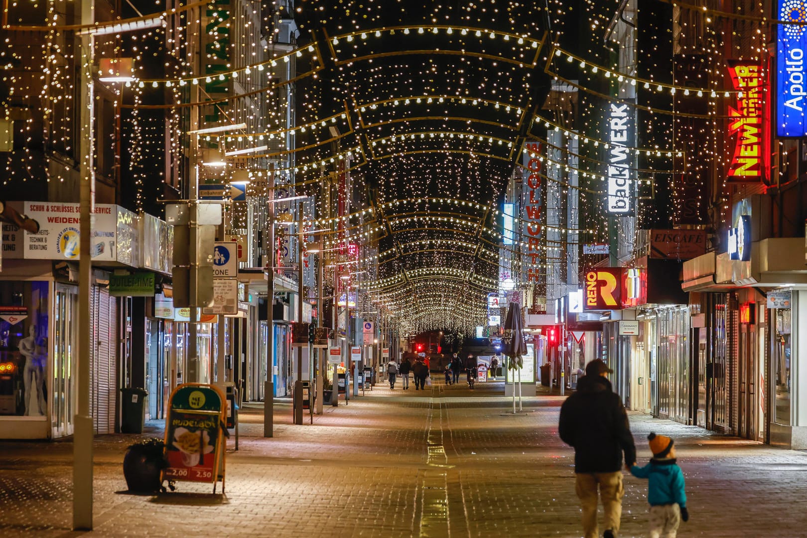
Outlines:
[[586,365],[577,391],[560,408],[558,433],[575,448],[575,491],[583,506],[585,538],[598,538],[597,489],[605,511],[604,538],[619,532],[622,515],[622,452],[625,468],[636,463],[636,447],[625,407],[606,376],[612,373],[597,359]]

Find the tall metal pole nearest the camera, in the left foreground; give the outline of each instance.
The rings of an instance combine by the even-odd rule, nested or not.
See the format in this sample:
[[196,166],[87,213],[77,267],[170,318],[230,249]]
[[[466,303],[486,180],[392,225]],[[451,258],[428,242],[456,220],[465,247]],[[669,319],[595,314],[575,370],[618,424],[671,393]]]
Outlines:
[[[94,0],[82,2],[82,24],[94,23]],[[90,357],[92,326],[90,325],[90,293],[92,284],[92,215],[95,206],[94,152],[94,38],[90,32],[77,32],[77,48],[82,57],[79,139],[81,184],[80,257],[78,260],[78,360],[76,382],[76,415],[73,417],[73,529],[93,528],[93,419],[90,416]]]

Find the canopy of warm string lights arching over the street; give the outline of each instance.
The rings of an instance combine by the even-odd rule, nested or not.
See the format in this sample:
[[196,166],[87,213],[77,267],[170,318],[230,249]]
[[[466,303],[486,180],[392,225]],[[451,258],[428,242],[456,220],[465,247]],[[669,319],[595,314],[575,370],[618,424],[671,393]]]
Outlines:
[[[14,140],[26,140],[6,153],[3,185],[71,177],[77,80],[64,43],[69,32],[90,33],[100,80],[109,78],[103,99],[128,148],[109,159],[98,151],[98,166],[127,171],[131,181],[119,182],[137,209],[181,190],[181,167],[154,163],[182,155],[190,136],[199,137],[205,179],[250,181],[257,196],[266,196],[269,174],[290,201],[317,194],[324,178],[349,175],[342,196],[352,199],[341,200],[348,214],[326,211],[337,204],[318,196],[307,226],[328,230],[323,249],[363,245],[350,263],[374,269],[353,268],[349,286],[370,290],[374,306],[362,308],[386,312],[409,333],[470,334],[485,324],[484,297],[505,273],[523,284],[524,269],[541,274],[570,245],[641,227],[721,222],[727,194],[753,188],[716,172],[732,155],[727,106],[744,97],[724,60],[759,64],[768,77],[767,44],[781,23],[759,2],[736,2],[729,12],[659,0],[626,13],[632,2],[617,0],[303,1],[299,37],[286,45],[272,17],[235,0],[177,2],[159,12],[127,2],[122,13],[106,14],[111,20],[86,27],[64,20],[66,3],[11,2],[4,13],[7,30],[38,37],[0,48],[6,119]],[[130,6],[141,9],[129,13]],[[44,24],[27,25],[34,12]],[[619,60],[620,19],[639,21],[636,65]],[[194,68],[188,43],[196,41],[206,44]],[[604,111],[612,104],[638,119],[624,144],[638,224],[617,230],[601,218],[612,144]],[[201,127],[189,131],[194,107]],[[41,114],[27,113],[34,109]],[[546,188],[575,199],[579,210],[578,226],[545,225],[547,234],[530,244],[538,260],[521,256],[523,237],[503,246],[501,203],[530,159]],[[166,170],[156,181],[155,169]],[[523,219],[512,215],[518,229]]]

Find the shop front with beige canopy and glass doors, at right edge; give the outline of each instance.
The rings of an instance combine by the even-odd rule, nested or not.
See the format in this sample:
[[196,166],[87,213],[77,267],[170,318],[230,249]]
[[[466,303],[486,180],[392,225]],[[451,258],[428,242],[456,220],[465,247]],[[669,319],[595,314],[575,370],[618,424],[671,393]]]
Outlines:
[[683,289],[696,312],[691,323],[694,423],[807,448],[794,329],[807,308],[807,297],[801,297],[807,289],[804,239],[749,237],[743,250],[744,259],[731,259],[731,252],[708,253],[684,265]]

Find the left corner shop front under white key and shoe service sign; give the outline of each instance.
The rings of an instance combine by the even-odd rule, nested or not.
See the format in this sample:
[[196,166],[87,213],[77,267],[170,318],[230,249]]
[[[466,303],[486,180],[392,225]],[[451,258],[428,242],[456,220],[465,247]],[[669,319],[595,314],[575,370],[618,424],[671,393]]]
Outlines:
[[[0,273],[0,438],[52,439],[73,433],[77,384],[79,233],[75,203],[10,202],[40,232],[4,225]],[[115,431],[118,307],[111,271],[136,265],[137,215],[98,204],[91,240],[90,412],[96,433]],[[5,368],[3,368],[3,366]]]

